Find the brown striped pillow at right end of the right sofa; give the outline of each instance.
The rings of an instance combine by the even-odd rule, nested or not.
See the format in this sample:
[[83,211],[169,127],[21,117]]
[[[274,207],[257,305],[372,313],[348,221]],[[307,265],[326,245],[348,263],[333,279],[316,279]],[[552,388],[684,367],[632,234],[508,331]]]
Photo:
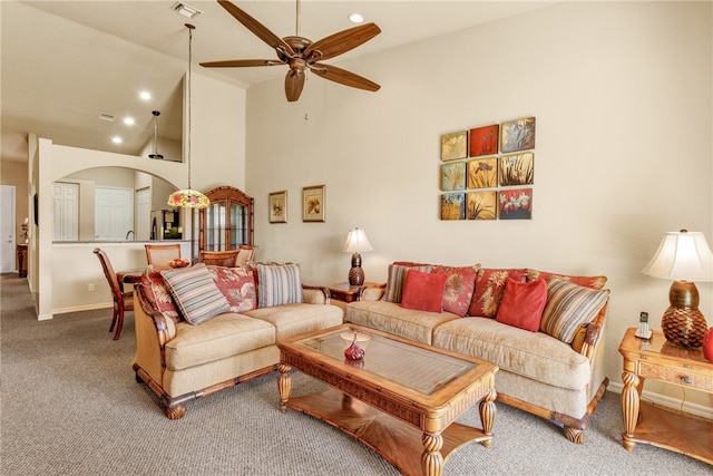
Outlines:
[[547,304],[540,330],[572,343],[577,330],[596,318],[608,297],[609,290],[580,286],[553,276],[547,281]]

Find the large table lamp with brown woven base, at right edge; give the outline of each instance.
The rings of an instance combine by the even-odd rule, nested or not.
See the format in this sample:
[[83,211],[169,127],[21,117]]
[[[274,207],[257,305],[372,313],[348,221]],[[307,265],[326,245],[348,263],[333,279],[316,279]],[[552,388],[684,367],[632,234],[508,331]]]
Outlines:
[[684,348],[701,347],[707,329],[693,281],[713,281],[713,254],[701,232],[667,232],[642,274],[674,280],[671,305],[661,318],[666,339]]

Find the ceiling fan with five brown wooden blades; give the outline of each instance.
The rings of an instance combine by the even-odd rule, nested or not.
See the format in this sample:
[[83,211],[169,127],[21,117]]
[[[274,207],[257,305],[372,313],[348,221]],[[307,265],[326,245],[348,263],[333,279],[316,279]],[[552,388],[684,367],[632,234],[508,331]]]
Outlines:
[[290,70],[285,76],[285,95],[289,101],[295,101],[302,94],[306,70],[341,85],[368,91],[379,90],[380,86],[369,79],[338,68],[325,65],[325,59],[334,58],[358,46],[369,41],[381,32],[374,23],[361,25],[322,38],[316,42],[300,36],[300,0],[297,0],[296,35],[280,38],[253,17],[226,0],[218,0],[221,7],[227,10],[245,28],[251,30],[261,40],[274,48],[277,60],[274,59],[234,59],[225,61],[201,62],[206,68],[245,68],[253,66],[287,65]]

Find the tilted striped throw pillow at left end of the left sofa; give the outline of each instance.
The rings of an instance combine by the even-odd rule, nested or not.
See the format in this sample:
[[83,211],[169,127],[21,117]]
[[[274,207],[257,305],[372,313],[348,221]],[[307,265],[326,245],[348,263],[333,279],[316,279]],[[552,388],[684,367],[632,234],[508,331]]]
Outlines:
[[160,274],[180,313],[189,323],[199,324],[229,311],[231,304],[213,281],[205,264],[162,270]]

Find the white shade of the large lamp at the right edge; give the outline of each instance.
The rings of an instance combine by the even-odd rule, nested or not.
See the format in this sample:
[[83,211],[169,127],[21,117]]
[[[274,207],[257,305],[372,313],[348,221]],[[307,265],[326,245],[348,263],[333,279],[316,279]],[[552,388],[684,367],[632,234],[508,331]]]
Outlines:
[[701,232],[667,232],[642,273],[675,281],[713,281],[713,254]]

